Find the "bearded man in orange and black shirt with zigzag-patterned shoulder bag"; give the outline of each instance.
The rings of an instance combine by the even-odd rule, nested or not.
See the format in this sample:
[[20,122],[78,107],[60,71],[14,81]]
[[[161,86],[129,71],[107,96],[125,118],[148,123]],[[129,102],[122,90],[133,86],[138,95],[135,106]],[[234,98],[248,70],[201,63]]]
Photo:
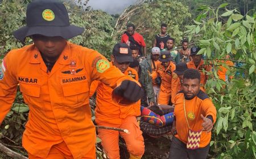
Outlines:
[[183,74],[183,90],[175,97],[175,136],[169,159],[207,158],[217,112],[212,100],[200,90],[200,76],[196,69],[187,69]]

